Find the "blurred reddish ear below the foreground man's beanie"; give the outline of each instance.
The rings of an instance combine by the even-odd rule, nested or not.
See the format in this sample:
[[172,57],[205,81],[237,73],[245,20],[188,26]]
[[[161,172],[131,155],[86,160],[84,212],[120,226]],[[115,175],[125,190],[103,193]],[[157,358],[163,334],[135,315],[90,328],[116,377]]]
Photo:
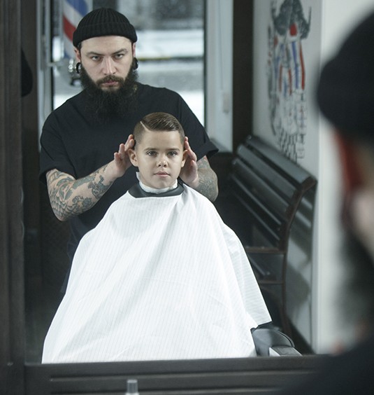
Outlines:
[[354,142],[335,133],[338,144],[340,164],[342,166],[345,195],[352,195],[362,184],[363,174],[361,166],[361,149]]

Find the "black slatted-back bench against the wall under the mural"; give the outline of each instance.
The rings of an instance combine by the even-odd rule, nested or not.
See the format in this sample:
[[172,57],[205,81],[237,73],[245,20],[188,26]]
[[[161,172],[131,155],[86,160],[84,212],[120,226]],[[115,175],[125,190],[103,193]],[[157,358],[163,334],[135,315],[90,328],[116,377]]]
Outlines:
[[238,146],[231,172],[215,203],[224,222],[238,235],[261,291],[280,315],[290,335],[286,311],[289,236],[296,216],[312,232],[317,180],[259,137]]

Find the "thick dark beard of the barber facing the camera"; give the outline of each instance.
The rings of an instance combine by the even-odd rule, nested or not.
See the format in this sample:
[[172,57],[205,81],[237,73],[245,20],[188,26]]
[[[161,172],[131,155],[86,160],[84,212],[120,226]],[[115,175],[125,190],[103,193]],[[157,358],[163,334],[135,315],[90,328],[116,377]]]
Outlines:
[[[126,113],[134,111],[136,108],[137,79],[137,71],[131,68],[125,79],[117,76],[106,76],[94,82],[82,67],[80,81],[89,96],[87,104],[89,111],[101,122],[105,122],[112,116],[124,116]],[[110,81],[118,82],[119,88],[116,90],[103,90],[100,88],[101,83]]]

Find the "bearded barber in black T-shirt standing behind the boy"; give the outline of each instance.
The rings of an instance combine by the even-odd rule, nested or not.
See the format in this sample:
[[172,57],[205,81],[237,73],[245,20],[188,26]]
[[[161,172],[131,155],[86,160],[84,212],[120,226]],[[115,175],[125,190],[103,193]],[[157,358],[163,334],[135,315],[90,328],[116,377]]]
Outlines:
[[71,260],[81,237],[136,182],[127,155],[134,141],[128,137],[148,113],[164,111],[180,120],[188,137],[180,178],[210,200],[217,197],[217,176],[208,162],[217,148],[177,93],[136,82],[136,41],[134,27],[117,11],[85,15],[73,34],[85,89],[43,126],[40,178],[57,218],[70,220]]

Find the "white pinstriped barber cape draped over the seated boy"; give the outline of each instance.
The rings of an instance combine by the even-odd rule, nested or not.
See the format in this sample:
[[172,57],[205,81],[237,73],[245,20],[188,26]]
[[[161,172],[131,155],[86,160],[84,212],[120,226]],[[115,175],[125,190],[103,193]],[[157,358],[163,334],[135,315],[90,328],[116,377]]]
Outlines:
[[208,199],[179,189],[127,192],[82,238],[43,363],[256,354],[250,328],[271,317],[245,251]]

